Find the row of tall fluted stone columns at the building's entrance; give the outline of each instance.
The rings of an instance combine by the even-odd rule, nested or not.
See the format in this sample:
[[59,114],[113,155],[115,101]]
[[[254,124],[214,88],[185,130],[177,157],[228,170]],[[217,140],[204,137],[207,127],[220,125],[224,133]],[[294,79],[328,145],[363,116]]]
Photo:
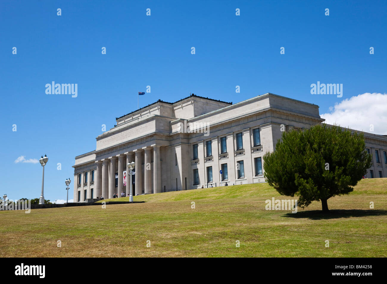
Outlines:
[[[153,153],[152,153],[153,150]],[[144,186],[142,186],[142,154],[144,153]],[[126,168],[126,190],[125,196],[130,190],[130,167],[128,163],[135,162],[135,195],[140,195],[144,191],[145,194],[152,193],[152,171],[151,158],[153,155],[153,185],[154,193],[161,192],[161,165],[160,165],[160,146],[152,145],[136,149],[134,151],[125,152],[116,156],[111,156],[106,159],[96,161],[97,163],[97,179],[96,191],[97,196],[113,198],[115,194],[115,173],[116,161],[118,159],[118,188],[117,193],[121,196],[123,192],[123,176],[122,172]],[[110,167],[110,171],[109,171]],[[110,172],[110,183],[109,183]]]

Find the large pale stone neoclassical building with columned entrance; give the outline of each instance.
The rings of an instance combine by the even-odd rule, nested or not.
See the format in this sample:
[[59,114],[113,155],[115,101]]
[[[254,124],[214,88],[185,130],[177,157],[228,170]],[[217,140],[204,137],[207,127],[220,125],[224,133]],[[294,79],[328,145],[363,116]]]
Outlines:
[[[282,131],[323,121],[318,105],[270,93],[236,104],[194,94],[158,100],[116,118],[96,138],[96,150],[75,157],[74,202],[127,196],[123,179],[130,181],[132,161],[133,195],[265,182],[262,156]],[[386,177],[387,137],[365,133],[365,139],[374,158],[368,177]]]

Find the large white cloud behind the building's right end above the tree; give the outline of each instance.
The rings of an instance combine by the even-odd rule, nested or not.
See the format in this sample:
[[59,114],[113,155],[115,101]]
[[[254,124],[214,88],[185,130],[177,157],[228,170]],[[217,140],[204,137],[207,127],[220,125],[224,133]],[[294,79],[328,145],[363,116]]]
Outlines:
[[334,107],[329,107],[329,111],[321,114],[328,124],[336,123],[373,134],[387,134],[387,94],[360,94],[336,103]]

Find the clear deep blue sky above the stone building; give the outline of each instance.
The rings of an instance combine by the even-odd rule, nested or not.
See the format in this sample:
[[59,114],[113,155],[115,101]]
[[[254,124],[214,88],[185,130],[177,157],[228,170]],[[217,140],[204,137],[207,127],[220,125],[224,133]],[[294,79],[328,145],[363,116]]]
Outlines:
[[[317,104],[320,114],[387,92],[386,1],[36,3],[0,2],[0,193],[10,199],[40,196],[40,164],[14,161],[45,153],[45,198],[65,199],[75,156],[95,149],[102,124],[134,111],[147,85],[140,107],[190,93],[239,102],[271,92]],[[77,83],[77,97],[46,94],[51,81]],[[317,81],[342,83],[343,96],[310,94]]]

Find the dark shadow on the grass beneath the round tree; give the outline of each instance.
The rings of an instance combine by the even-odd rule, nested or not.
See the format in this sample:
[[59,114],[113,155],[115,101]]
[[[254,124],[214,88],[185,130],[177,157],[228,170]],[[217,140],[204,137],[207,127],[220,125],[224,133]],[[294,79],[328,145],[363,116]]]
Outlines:
[[297,213],[286,213],[284,216],[289,218],[308,218],[312,220],[322,219],[338,219],[338,218],[350,218],[350,217],[367,217],[367,216],[387,216],[387,210],[375,210],[375,209],[339,209],[329,210],[325,213],[322,210],[310,210],[299,211]]

